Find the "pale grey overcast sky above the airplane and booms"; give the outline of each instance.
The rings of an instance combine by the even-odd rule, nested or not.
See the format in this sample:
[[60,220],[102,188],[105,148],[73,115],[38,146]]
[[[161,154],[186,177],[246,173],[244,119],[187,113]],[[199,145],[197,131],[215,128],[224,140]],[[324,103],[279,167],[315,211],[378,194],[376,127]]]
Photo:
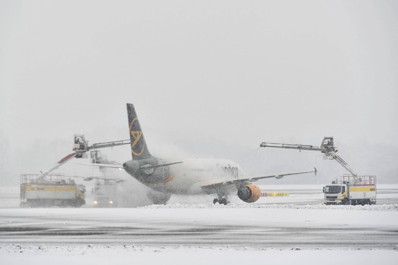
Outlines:
[[397,1],[0,0],[1,178],[51,167],[74,133],[127,139],[126,102],[155,154],[239,159],[262,141],[332,135],[354,161],[351,148],[393,145],[366,154],[386,161],[397,47]]

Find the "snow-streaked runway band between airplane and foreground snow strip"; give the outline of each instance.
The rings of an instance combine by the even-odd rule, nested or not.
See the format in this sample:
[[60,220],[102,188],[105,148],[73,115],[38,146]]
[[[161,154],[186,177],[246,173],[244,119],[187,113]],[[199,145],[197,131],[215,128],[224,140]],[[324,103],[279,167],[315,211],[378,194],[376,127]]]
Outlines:
[[398,244],[398,206],[327,207],[1,209],[0,242],[306,249],[394,249]]

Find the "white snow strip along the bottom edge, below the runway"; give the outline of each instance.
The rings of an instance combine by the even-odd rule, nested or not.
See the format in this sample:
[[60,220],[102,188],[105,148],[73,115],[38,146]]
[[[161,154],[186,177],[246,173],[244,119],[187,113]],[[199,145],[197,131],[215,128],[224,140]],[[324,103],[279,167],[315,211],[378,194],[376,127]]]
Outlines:
[[395,250],[302,250],[235,247],[146,247],[135,245],[0,245],[2,264],[383,264],[398,262]]

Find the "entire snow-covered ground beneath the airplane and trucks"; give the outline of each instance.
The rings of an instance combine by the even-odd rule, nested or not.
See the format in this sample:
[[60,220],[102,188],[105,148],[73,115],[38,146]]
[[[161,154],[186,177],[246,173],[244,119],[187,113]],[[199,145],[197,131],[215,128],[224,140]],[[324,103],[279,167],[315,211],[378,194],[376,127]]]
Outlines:
[[[289,196],[255,204],[181,196],[114,209],[17,208],[3,188],[0,263],[398,264],[398,204],[324,206],[319,188],[294,188],[268,186]],[[397,200],[395,186],[384,191]]]

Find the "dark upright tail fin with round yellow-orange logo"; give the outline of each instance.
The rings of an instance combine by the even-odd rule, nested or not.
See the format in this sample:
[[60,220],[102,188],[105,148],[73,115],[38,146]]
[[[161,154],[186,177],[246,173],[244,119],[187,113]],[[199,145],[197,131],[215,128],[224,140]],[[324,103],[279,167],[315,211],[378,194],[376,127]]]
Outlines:
[[127,103],[127,115],[129,117],[131,155],[133,156],[133,160],[151,158],[152,155],[146,146],[140,122],[138,121],[133,104]]

